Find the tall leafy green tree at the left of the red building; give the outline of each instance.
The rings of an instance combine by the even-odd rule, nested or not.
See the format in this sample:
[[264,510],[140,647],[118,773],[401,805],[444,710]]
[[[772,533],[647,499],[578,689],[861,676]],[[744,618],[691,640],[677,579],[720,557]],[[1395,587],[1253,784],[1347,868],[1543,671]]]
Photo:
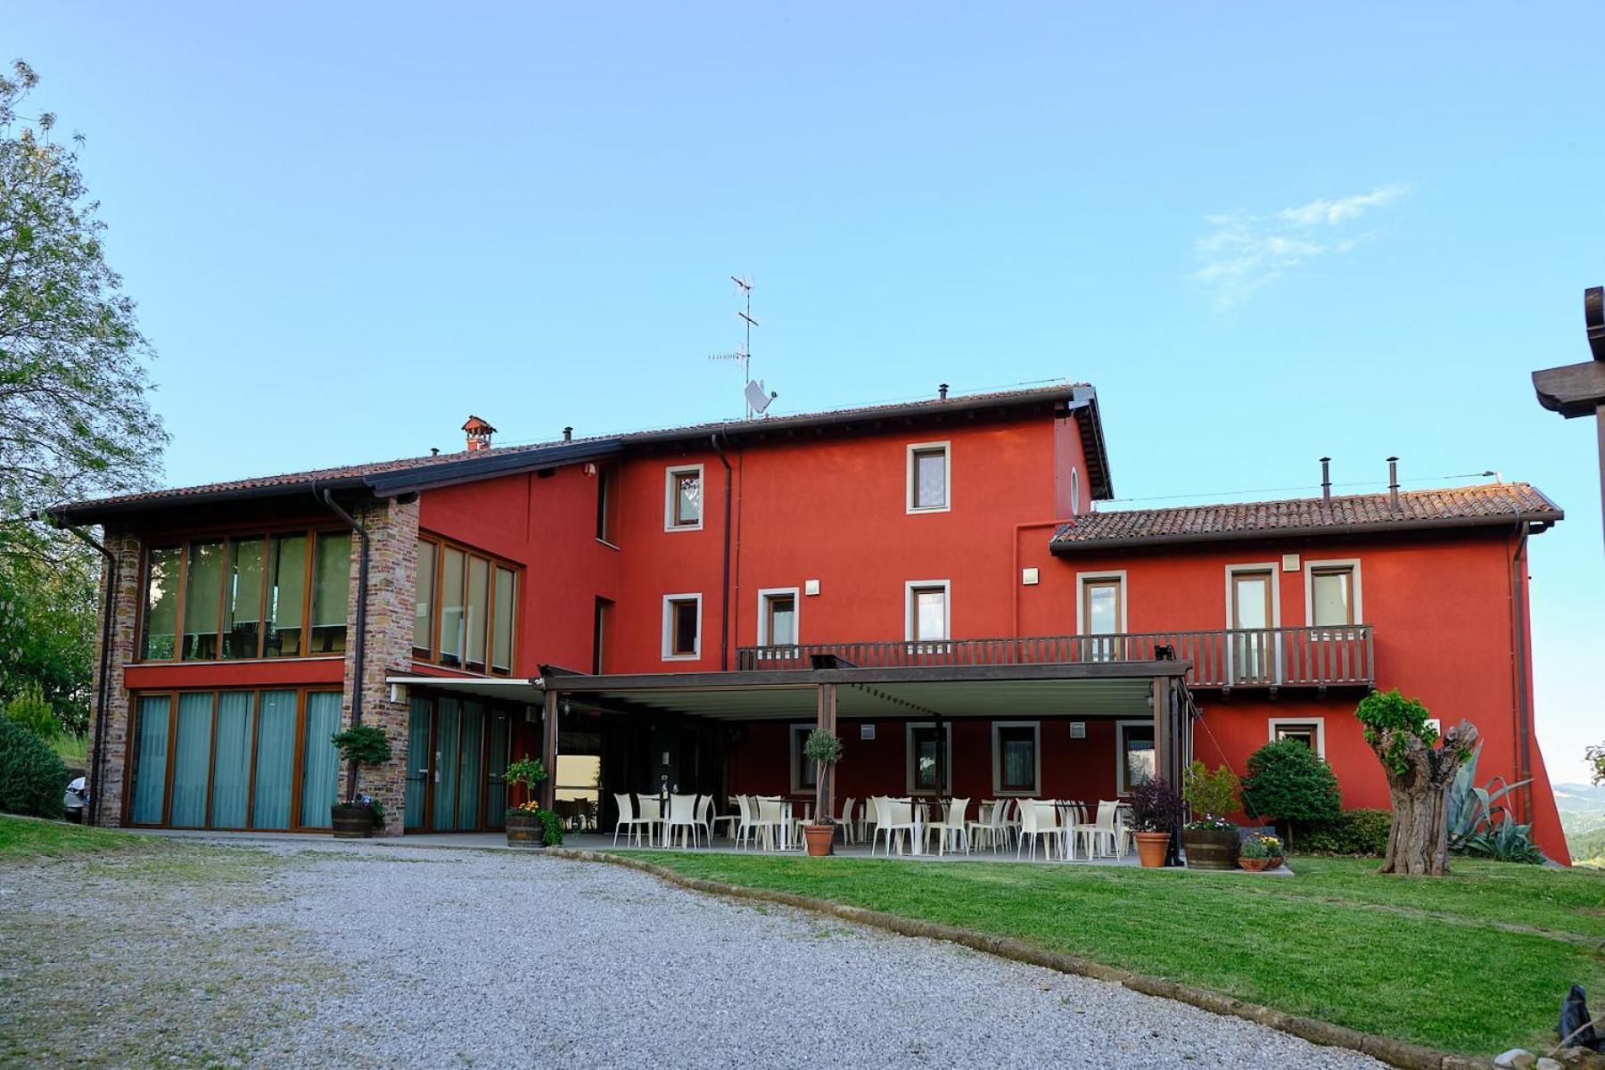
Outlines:
[[63,727],[88,717],[100,558],[27,518],[148,486],[167,435],[151,348],[106,263],[82,136],[21,107],[39,75],[0,74],[0,699],[37,683]]

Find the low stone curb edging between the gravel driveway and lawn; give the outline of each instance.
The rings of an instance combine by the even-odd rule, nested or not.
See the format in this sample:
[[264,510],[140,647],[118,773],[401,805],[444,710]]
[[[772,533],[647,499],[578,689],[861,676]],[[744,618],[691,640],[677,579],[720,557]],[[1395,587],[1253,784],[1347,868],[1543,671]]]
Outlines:
[[1132,971],[1103,966],[1101,963],[1093,963],[1075,954],[1064,954],[1063,951],[1050,951],[1046,948],[1026,943],[1024,940],[1014,940],[1013,937],[993,937],[984,932],[976,932],[974,929],[915,921],[900,914],[888,914],[883,911],[863,910],[860,906],[831,903],[830,900],[812,898],[809,895],[794,895],[791,892],[775,892],[770,889],[754,889],[738,884],[721,884],[717,881],[687,877],[674,869],[642,861],[640,858],[626,858],[623,855],[612,855],[599,850],[547,847],[546,855],[552,858],[568,858],[573,861],[600,861],[624,866],[626,869],[648,873],[693,892],[778,903],[782,906],[793,906],[815,914],[830,914],[860,926],[888,929],[905,937],[924,937],[928,940],[960,943],[966,948],[984,951],[987,954],[997,954],[1016,963],[1026,963],[1027,966],[1040,966],[1043,969],[1058,971],[1061,974],[1074,974],[1077,977],[1091,977],[1093,980],[1109,982],[1111,985],[1122,985],[1132,991],[1140,991],[1144,996],[1160,996],[1164,999],[1186,1003],[1212,1014],[1245,1019],[1282,1033],[1290,1033],[1292,1036],[1298,1036],[1313,1044],[1323,1044],[1326,1048],[1348,1048],[1350,1051],[1371,1056],[1372,1059],[1379,1059],[1392,1067],[1400,1067],[1400,1070],[1493,1070],[1494,1065],[1486,1059],[1451,1056],[1420,1044],[1377,1036],[1374,1033],[1361,1033],[1359,1030],[1351,1030],[1345,1025],[1332,1025],[1331,1022],[1321,1022],[1319,1019],[1298,1017],[1295,1014],[1276,1011],[1274,1007],[1244,1003],[1242,999],[1210,991],[1209,988],[1194,988],[1193,985],[1181,985],[1173,980],[1164,980],[1162,977],[1149,977],[1146,974],[1133,974]]

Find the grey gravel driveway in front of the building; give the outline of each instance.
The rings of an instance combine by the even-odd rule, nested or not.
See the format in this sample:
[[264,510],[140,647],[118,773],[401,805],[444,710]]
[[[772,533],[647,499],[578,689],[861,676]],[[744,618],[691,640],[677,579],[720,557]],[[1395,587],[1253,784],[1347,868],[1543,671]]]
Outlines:
[[1382,1065],[968,948],[507,852],[185,844],[8,865],[0,948],[14,1065]]

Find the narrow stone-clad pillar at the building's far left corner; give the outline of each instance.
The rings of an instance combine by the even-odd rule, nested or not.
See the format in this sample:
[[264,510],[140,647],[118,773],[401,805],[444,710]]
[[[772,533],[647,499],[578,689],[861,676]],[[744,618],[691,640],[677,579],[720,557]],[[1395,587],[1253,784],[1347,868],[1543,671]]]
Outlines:
[[[128,720],[132,704],[128,688],[122,685],[122,671],[133,661],[133,637],[140,622],[140,569],[143,568],[143,547],[140,539],[127,531],[108,529],[101,542],[117,558],[117,587],[112,592],[111,626],[111,664],[112,680],[106,709],[93,709],[90,714],[90,759],[95,757],[96,746],[103,748],[100,800],[96,820],[108,828],[120,828],[124,817],[124,791],[128,780]],[[101,560],[100,600],[101,619],[108,613],[106,606],[106,569],[109,565]],[[95,669],[90,695],[100,695],[101,664],[101,629],[95,629]],[[104,738],[98,738],[104,733]],[[93,768],[88,775],[93,783]]]

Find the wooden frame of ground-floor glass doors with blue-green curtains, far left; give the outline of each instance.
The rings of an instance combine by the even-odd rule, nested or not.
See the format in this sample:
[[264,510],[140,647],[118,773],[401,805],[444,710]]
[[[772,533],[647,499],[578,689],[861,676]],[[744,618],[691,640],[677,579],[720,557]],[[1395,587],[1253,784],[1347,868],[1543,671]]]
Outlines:
[[[247,776],[247,794],[246,794],[246,825],[244,826],[226,826],[217,828],[212,825],[212,781],[217,772],[217,712],[221,704],[221,696],[225,693],[246,691],[250,695],[250,773]],[[340,695],[343,699],[345,691],[339,687],[329,687],[326,683],[302,683],[302,685],[255,685],[255,687],[162,687],[148,688],[138,691],[128,691],[128,736],[124,751],[124,767],[125,775],[122,778],[122,825],[125,828],[172,828],[173,818],[173,762],[178,754],[178,699],[185,695],[210,695],[212,696],[212,746],[210,756],[207,757],[207,784],[205,784],[205,825],[201,826],[185,826],[194,831],[210,831],[210,833],[247,833],[255,829],[257,818],[257,744],[262,738],[262,696],[266,691],[294,691],[295,693],[295,751],[291,759],[291,810],[289,821],[286,828],[266,829],[274,833],[305,833],[316,836],[327,836],[329,828],[324,825],[302,825],[302,778],[307,773],[305,751],[307,751],[307,698],[311,695]],[[160,823],[135,823],[133,817],[133,789],[138,780],[140,765],[138,754],[135,752],[138,741],[138,717],[140,706],[148,698],[165,698],[167,699],[167,770],[162,781],[162,820]],[[345,720],[342,711],[342,723]]]

